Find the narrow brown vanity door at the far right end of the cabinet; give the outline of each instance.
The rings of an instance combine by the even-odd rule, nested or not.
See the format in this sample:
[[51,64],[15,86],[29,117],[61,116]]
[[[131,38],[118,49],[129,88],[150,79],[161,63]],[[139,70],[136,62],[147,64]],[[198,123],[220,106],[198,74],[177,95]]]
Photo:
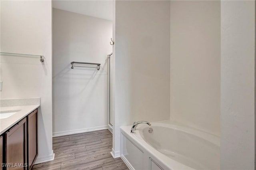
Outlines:
[[28,115],[28,169],[37,157],[37,109]]

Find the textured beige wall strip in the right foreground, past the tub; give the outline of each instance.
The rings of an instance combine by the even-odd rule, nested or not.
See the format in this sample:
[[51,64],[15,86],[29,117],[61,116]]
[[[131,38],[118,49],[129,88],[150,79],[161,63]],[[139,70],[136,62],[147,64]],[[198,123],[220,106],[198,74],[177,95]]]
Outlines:
[[221,169],[254,169],[255,2],[221,2]]

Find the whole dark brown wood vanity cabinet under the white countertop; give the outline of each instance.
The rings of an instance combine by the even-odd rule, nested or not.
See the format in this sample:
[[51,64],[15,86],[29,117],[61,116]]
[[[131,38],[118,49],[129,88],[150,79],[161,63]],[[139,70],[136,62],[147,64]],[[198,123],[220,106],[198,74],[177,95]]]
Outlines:
[[1,170],[31,170],[38,155],[37,109],[1,134]]

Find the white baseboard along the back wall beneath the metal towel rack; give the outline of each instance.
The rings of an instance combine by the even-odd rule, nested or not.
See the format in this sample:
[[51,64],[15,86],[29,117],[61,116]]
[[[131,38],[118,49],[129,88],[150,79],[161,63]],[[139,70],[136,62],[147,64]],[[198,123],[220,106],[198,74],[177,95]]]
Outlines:
[[100,126],[100,127],[83,128],[83,129],[77,129],[77,130],[67,130],[67,131],[61,131],[61,132],[52,132],[52,137],[64,136],[64,135],[68,135],[68,134],[83,133],[83,132],[90,132],[90,131],[102,130],[102,129],[108,129],[108,125]]

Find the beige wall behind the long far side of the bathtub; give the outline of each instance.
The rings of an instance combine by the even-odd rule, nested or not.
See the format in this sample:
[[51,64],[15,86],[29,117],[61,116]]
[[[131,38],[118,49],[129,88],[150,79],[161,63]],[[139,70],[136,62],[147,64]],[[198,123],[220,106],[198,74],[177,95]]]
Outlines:
[[170,119],[220,136],[220,1],[171,1],[170,20]]

